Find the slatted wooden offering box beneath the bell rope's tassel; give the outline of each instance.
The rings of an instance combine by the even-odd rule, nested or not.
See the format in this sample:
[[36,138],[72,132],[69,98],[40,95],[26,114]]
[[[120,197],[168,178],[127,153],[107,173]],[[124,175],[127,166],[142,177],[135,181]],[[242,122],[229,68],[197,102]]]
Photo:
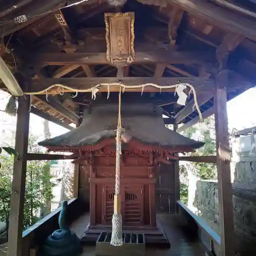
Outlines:
[[111,233],[102,232],[96,242],[96,255],[99,256],[144,256],[144,234],[123,233],[123,245],[113,246],[110,244]]

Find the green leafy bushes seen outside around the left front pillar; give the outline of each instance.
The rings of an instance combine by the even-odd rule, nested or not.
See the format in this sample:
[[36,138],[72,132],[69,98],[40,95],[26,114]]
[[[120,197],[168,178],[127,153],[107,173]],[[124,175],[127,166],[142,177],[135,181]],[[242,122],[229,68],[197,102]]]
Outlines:
[[[29,137],[29,153],[43,153],[36,144],[36,137]],[[9,152],[8,152],[9,153]],[[13,156],[1,155],[2,168],[0,169],[0,221],[9,222]],[[46,207],[47,202],[53,198],[50,182],[50,163],[46,161],[28,161],[26,173],[26,190],[24,204],[24,229],[28,228],[38,218],[36,214],[40,208]]]

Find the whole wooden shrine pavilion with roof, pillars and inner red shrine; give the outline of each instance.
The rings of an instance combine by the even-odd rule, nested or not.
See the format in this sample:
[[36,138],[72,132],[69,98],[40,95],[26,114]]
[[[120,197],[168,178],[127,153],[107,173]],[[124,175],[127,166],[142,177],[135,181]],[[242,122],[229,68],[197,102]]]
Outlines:
[[[122,193],[125,227],[133,218],[144,229],[161,222],[170,249],[148,255],[234,256],[226,103],[255,86],[255,1],[1,0],[0,4],[0,89],[18,100],[19,159],[14,160],[9,256],[34,255],[57,228],[59,210],[22,230],[27,161],[74,159],[69,223],[84,220],[91,210],[89,231],[108,226],[117,126],[117,116],[111,113],[116,113],[120,87],[122,121],[129,138],[122,143],[121,172],[129,181]],[[70,130],[42,145],[73,154],[27,153],[30,113]],[[217,155],[178,156],[200,146],[178,133],[213,114]],[[164,124],[173,124],[174,131]],[[179,201],[180,159],[217,164],[220,236]],[[137,207],[133,217],[129,207]],[[192,230],[198,240],[185,239],[175,225],[180,222],[187,224],[185,233]],[[79,224],[81,237],[87,224]]]

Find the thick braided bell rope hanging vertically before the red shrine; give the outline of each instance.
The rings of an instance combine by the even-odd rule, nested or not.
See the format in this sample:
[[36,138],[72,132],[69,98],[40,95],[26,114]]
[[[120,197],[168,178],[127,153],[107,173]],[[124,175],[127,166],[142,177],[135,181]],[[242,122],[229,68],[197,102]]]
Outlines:
[[121,246],[122,239],[122,215],[121,215],[121,197],[120,197],[120,157],[121,157],[121,134],[123,132],[121,124],[121,87],[119,91],[118,104],[118,123],[116,131],[116,184],[114,196],[114,214],[112,217],[112,237],[111,245]]

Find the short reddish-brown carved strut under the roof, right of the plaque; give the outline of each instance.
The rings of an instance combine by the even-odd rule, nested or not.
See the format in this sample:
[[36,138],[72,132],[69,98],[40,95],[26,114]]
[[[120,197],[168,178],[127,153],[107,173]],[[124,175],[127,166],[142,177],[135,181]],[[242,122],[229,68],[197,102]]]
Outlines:
[[180,8],[173,7],[172,12],[170,13],[170,19],[168,23],[168,36],[170,39],[170,45],[175,46],[177,31],[180,26],[184,11]]

